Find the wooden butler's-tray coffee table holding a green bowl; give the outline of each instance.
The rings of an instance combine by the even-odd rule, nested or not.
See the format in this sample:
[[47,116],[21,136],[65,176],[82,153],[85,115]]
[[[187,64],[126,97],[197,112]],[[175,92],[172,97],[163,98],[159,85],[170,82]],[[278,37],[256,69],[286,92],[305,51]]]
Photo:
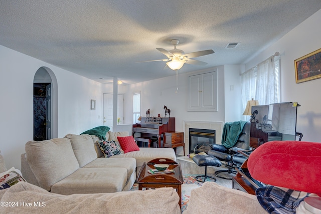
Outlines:
[[[174,172],[167,174],[150,174],[147,171],[149,169],[155,169],[154,164],[156,163],[165,163],[169,164],[169,169],[173,169]],[[180,164],[175,162],[172,159],[168,158],[156,158],[148,163],[143,163],[136,182],[138,183],[138,189],[142,188],[161,188],[161,187],[173,187],[176,189],[177,193],[180,196],[179,205],[182,206],[182,184],[183,184],[183,174]]]

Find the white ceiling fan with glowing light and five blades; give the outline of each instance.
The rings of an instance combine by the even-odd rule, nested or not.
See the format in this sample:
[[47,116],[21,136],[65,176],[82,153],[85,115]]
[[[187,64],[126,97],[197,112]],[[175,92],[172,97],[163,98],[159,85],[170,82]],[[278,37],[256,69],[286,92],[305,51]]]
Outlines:
[[183,50],[177,49],[176,46],[180,43],[179,40],[174,39],[171,40],[172,45],[174,45],[174,49],[167,51],[164,48],[156,48],[158,51],[162,52],[165,56],[167,56],[169,59],[163,59],[163,60],[151,60],[151,61],[145,61],[145,62],[155,62],[155,61],[164,61],[167,62],[166,65],[174,70],[177,71],[183,67],[185,63],[191,64],[191,65],[206,65],[206,62],[202,62],[199,60],[194,60],[192,58],[195,57],[201,57],[208,54],[213,54],[213,50],[205,50],[205,51],[197,51],[192,52],[189,54],[185,54]]

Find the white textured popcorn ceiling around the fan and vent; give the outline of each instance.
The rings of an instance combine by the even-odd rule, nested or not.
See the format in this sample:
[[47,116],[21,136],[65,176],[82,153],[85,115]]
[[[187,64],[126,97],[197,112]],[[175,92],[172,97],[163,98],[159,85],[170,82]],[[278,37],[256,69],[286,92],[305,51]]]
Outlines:
[[[242,64],[321,9],[320,0],[0,0],[0,45],[107,83],[175,75],[155,48],[212,49],[190,72]],[[239,42],[235,49],[228,43]],[[271,53],[271,55],[274,53]],[[102,78],[102,79],[100,79]]]

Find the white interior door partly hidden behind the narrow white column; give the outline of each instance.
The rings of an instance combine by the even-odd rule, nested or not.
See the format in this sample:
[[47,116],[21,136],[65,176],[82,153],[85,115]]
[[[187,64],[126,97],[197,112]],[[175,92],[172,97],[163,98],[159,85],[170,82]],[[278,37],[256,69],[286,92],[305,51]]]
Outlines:
[[[117,118],[120,118],[118,124],[124,124],[124,95],[117,96]],[[103,94],[103,125],[108,126],[110,131],[113,127],[113,94]]]

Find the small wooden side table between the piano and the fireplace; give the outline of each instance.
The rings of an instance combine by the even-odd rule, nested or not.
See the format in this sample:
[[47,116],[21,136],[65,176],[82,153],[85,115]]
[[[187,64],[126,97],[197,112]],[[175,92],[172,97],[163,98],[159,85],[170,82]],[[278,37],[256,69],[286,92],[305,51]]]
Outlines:
[[183,152],[185,156],[184,132],[165,132],[163,146],[165,148],[174,148],[175,153],[177,147],[183,146]]

